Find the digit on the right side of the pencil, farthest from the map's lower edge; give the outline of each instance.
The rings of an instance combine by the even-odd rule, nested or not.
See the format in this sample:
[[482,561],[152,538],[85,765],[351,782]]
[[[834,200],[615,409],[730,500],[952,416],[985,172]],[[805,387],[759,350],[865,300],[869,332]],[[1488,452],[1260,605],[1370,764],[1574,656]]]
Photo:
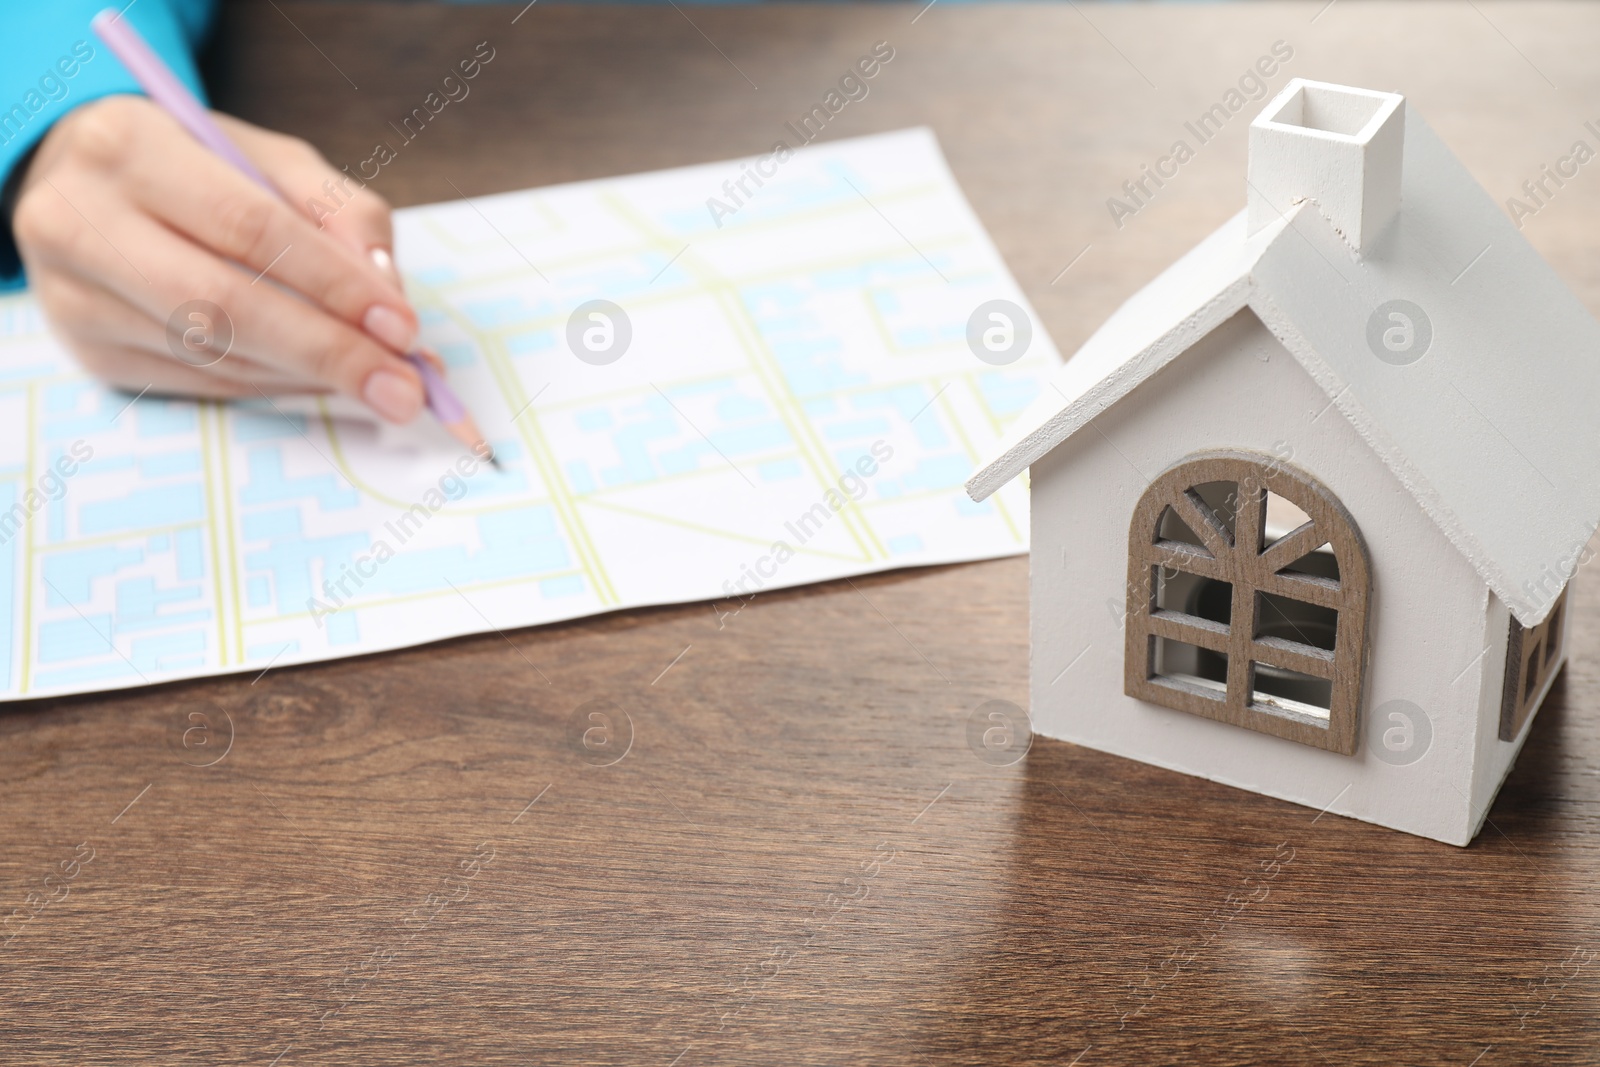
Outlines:
[[[370,248],[394,248],[389,203],[349,168],[334,170],[317,149],[296,138],[285,138],[229,115],[216,118],[245,155],[283,190],[288,202],[334,240],[358,256],[365,256]],[[384,269],[382,264],[379,269]],[[384,274],[398,285],[400,275],[392,264]]]

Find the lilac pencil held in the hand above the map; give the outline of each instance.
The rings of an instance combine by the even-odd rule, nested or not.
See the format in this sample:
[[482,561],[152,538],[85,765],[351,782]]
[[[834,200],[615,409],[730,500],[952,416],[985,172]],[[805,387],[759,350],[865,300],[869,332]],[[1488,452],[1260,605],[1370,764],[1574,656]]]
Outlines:
[[[150,99],[155,101],[168,115],[178,120],[184,130],[187,130],[195,141],[205,147],[216,152],[219,157],[234,165],[235,170],[251,178],[262,189],[267,189],[275,197],[283,194],[267,181],[254,163],[250,162],[238,146],[229,141],[222,128],[216,125],[211,118],[211,112],[206,106],[195,99],[195,94],[173,74],[171,67],[162,62],[162,58],[139,37],[139,32],[133,29],[128,19],[122,18],[122,13],[115,8],[106,8],[96,14],[90,26],[94,34],[106,42],[112,54],[122,59],[122,66],[128,67],[128,74],[133,80],[139,83]],[[494,450],[490,448],[488,440],[478,430],[478,424],[472,419],[467,406],[461,403],[461,397],[445,382],[445,376],[440,374],[432,363],[429,363],[418,352],[408,352],[406,360],[416,368],[418,374],[422,376],[422,389],[427,395],[427,408],[434,413],[450,435],[458,442],[478,453],[486,454],[488,461],[499,469],[499,461],[494,458]]]

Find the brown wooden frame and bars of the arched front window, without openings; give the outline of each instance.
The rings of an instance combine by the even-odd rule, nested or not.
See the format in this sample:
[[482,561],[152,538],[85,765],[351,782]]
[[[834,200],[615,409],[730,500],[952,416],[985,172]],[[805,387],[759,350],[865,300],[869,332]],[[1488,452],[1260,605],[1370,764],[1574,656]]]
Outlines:
[[[1237,485],[1235,537],[1195,493],[1213,482]],[[1298,506],[1309,522],[1262,550],[1267,493]],[[1194,547],[1160,537],[1166,507],[1203,541]],[[1235,544],[1235,539],[1240,544]],[[1323,544],[1333,549],[1339,577],[1283,573]],[[1230,582],[1230,622],[1211,622],[1157,608],[1157,568]],[[1333,651],[1275,637],[1258,637],[1258,593],[1275,593],[1338,611]],[[1366,669],[1366,625],[1371,598],[1371,561],[1355,520],[1339,499],[1310,475],[1275,456],[1248,451],[1206,451],[1162,472],[1139,498],[1128,531],[1128,614],[1125,691],[1128,696],[1192,715],[1202,715],[1315,749],[1354,755],[1360,726]],[[1155,672],[1158,637],[1227,654],[1224,693]],[[1254,701],[1258,661],[1331,683],[1328,721],[1299,717]]]

